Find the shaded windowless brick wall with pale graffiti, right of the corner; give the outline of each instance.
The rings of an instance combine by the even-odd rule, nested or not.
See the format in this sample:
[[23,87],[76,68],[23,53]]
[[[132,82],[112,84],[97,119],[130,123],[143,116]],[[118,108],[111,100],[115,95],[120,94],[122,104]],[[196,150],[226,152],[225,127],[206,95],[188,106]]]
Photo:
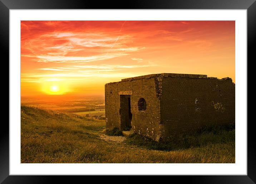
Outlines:
[[235,85],[231,79],[163,77],[162,137],[205,125],[235,122]]

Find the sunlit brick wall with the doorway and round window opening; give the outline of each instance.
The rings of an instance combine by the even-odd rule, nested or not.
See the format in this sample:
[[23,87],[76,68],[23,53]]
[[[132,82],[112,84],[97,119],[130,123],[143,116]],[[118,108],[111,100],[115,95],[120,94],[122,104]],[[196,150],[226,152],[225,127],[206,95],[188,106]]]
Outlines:
[[[120,106],[120,95],[131,95],[131,125],[134,132],[152,139],[159,137],[160,101],[157,97],[155,79],[149,77],[106,84],[106,128],[118,127],[123,129],[125,127],[120,123],[120,112],[122,112],[122,108],[120,110],[122,107],[122,105]],[[138,111],[140,98],[146,100],[145,111]]]

